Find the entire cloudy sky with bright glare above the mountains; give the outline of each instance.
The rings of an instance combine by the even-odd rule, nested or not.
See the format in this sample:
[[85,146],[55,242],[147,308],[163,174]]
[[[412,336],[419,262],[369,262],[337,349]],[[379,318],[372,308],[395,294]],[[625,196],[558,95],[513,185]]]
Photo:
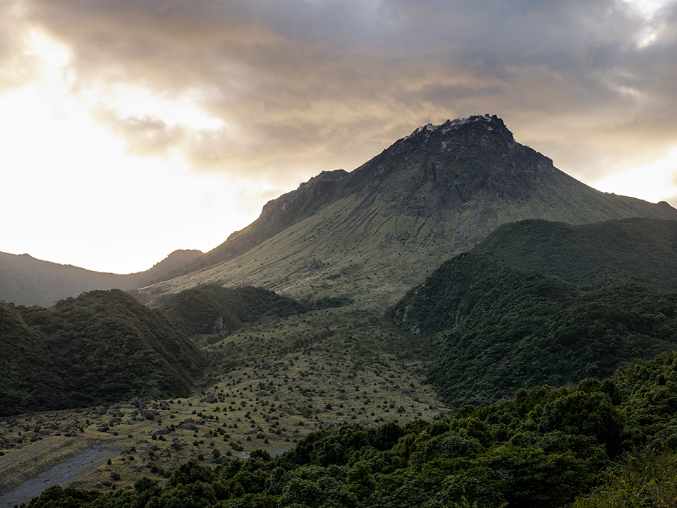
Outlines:
[[487,113],[677,207],[677,0],[0,0],[0,251],[147,270]]

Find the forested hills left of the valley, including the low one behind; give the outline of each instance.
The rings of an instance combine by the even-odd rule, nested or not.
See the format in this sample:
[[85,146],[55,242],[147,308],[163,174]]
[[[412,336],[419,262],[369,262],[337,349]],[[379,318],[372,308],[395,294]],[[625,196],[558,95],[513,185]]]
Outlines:
[[185,397],[207,365],[195,336],[343,303],[216,285],[183,291],[156,310],[118,289],[49,308],[0,301],[0,416]]

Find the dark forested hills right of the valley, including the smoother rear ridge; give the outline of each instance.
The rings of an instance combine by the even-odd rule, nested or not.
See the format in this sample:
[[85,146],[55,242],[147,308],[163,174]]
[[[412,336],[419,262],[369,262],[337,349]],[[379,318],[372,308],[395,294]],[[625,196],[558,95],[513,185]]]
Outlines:
[[441,265],[390,315],[440,345],[431,379],[454,405],[602,379],[677,346],[676,226],[504,226]]

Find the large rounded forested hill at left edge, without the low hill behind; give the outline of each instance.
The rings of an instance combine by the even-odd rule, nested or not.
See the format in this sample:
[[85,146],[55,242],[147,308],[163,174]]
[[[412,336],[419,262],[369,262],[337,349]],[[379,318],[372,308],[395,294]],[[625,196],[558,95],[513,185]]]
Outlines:
[[184,397],[206,365],[164,315],[116,289],[49,308],[0,302],[0,350],[0,416]]

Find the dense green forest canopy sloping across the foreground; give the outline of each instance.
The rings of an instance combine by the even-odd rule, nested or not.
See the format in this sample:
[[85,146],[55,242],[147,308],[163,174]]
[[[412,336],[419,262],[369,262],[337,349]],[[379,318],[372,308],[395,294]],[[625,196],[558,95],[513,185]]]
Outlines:
[[142,478],[106,494],[56,486],[28,507],[674,506],[676,452],[670,353],[608,380],[520,389],[434,421],[321,430],[274,458],[192,461],[164,485]]

